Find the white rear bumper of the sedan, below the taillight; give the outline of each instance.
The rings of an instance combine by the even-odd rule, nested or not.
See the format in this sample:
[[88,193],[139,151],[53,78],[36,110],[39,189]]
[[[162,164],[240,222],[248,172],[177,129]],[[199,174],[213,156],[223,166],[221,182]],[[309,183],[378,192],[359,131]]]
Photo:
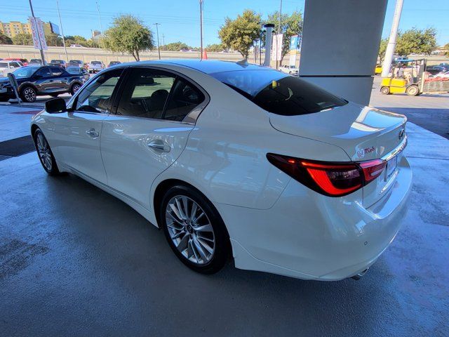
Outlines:
[[296,180],[271,209],[219,204],[236,267],[323,281],[366,270],[391,244],[406,213],[412,172],[405,157],[398,168],[390,190],[368,208],[361,191],[324,197]]

